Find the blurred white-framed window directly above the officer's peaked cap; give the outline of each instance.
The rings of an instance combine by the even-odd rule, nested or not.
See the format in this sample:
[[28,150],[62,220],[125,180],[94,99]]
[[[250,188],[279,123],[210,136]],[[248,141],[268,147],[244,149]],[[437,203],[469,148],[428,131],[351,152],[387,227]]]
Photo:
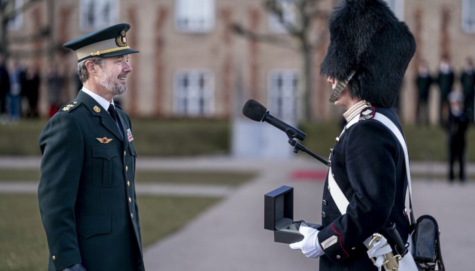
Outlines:
[[105,28],[117,22],[117,0],[80,0],[79,25],[83,31]]

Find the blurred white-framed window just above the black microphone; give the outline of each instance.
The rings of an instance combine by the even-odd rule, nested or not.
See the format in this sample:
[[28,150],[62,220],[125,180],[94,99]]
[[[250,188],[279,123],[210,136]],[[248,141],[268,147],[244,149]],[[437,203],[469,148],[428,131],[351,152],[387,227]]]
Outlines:
[[297,119],[298,74],[294,70],[274,70],[268,81],[269,111],[287,121]]

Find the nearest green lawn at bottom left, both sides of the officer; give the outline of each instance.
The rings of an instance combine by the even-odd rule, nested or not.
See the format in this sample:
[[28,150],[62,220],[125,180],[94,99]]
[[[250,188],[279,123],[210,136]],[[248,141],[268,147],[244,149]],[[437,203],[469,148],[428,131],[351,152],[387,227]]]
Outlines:
[[[138,196],[143,247],[185,226],[218,198]],[[48,249],[36,195],[0,196],[0,271],[46,270]]]

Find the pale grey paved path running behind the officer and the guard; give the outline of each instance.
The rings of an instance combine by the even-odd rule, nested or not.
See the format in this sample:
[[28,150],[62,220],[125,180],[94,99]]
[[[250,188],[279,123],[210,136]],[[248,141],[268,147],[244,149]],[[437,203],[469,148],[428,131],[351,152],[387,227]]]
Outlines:
[[[38,168],[39,159],[0,158],[0,168]],[[294,187],[294,218],[319,223],[322,180],[295,180],[295,170],[321,170],[325,166],[302,156],[291,161],[262,161],[228,157],[140,158],[138,169],[223,170],[258,172],[258,177],[202,213],[189,225],[145,249],[148,271],[288,271],[318,270],[318,261],[307,259],[287,245],[273,242],[263,222],[264,194],[281,185]],[[446,174],[445,163],[411,164],[413,173]],[[475,165],[468,166],[475,173]],[[139,189],[139,186],[138,186]],[[197,187],[195,187],[197,189]],[[1,190],[1,187],[0,187]],[[441,228],[447,270],[473,270],[475,254],[475,182],[449,185],[443,181],[415,180],[416,217],[433,215]]]

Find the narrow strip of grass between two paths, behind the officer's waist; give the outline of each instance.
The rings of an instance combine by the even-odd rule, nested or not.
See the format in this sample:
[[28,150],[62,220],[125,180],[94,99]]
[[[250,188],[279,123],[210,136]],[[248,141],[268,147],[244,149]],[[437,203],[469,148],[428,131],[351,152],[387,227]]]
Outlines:
[[[238,186],[255,176],[251,172],[214,172],[214,171],[154,171],[137,170],[135,180],[139,183],[167,184],[205,184]],[[40,180],[39,169],[1,169],[0,181]]]

